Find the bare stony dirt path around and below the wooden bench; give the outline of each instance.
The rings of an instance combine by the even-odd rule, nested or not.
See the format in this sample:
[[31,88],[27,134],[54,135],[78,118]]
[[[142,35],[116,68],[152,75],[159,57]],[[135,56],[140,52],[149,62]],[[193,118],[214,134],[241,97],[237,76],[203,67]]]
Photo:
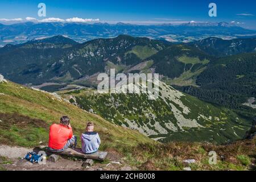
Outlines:
[[0,145],[0,170],[8,171],[130,171],[135,170],[115,152],[109,152],[105,162],[94,161],[93,166],[82,167],[84,160],[60,157],[57,162],[46,161],[46,164],[32,164],[23,159],[32,148]]

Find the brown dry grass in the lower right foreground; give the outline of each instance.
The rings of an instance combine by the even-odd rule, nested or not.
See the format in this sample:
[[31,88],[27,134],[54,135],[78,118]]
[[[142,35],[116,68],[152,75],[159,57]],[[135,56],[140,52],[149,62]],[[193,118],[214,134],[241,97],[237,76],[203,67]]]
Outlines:
[[[131,149],[134,160],[140,162],[140,169],[143,170],[180,170],[186,165],[182,163],[185,159],[195,159],[193,164],[199,170],[228,170],[230,165],[233,169],[246,169],[239,160],[238,155],[248,156],[251,163],[255,164],[256,138],[241,140],[227,145],[216,146],[211,143],[196,142],[170,142],[166,144],[140,144]],[[208,163],[209,151],[216,151],[217,166]],[[253,165],[250,166],[251,168]]]

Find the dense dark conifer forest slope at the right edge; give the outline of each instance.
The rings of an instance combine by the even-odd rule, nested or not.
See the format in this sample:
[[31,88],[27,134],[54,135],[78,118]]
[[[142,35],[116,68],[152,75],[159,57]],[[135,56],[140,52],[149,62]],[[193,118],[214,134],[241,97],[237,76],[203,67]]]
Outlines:
[[243,53],[217,59],[208,65],[196,80],[195,86],[176,87],[204,101],[237,110],[248,118],[256,110],[241,105],[247,98],[256,97],[256,53]]

